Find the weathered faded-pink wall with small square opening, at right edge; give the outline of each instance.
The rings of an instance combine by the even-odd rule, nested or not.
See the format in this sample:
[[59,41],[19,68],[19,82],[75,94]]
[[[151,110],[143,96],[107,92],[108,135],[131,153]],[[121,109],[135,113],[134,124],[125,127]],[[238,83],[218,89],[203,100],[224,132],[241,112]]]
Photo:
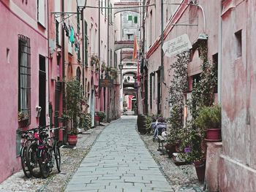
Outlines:
[[[255,1],[225,1],[222,10],[221,191],[256,188]],[[235,33],[241,30],[241,56]]]

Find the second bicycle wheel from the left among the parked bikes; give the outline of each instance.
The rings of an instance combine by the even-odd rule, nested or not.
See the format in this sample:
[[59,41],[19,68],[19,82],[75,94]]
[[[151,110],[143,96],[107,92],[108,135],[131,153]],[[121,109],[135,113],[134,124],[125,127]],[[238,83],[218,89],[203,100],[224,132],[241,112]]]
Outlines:
[[26,150],[26,160],[29,172],[36,178],[41,177],[41,171],[38,164],[38,150],[38,145],[35,142],[31,143]]

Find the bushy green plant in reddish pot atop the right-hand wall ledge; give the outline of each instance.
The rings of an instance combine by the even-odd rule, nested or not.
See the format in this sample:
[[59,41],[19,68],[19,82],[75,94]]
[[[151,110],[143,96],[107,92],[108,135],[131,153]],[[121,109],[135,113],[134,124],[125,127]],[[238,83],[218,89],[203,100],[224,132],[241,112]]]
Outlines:
[[206,131],[206,141],[221,141],[221,118],[221,107],[218,104],[199,108],[195,125]]

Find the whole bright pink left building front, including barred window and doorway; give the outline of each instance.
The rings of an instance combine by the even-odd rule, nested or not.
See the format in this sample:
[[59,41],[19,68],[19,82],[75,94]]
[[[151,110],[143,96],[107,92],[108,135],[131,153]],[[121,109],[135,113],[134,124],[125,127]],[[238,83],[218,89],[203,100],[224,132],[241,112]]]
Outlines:
[[0,1],[0,182],[20,169],[18,112],[24,128],[48,120],[47,6],[36,2]]

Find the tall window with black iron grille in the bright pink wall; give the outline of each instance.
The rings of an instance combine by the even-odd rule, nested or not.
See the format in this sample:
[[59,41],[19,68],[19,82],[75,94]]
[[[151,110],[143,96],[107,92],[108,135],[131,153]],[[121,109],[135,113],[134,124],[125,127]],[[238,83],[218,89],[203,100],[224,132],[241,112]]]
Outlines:
[[31,120],[31,55],[30,39],[18,35],[18,112],[22,120]]

